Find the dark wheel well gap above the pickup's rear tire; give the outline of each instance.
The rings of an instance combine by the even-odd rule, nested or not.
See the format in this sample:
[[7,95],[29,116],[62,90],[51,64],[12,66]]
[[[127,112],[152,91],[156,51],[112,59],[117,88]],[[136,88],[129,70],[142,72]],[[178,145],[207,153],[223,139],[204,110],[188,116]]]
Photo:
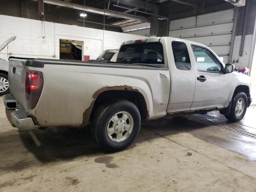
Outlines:
[[126,99],[134,103],[138,110],[140,111],[140,116],[142,120],[148,118],[148,110],[146,106],[146,101],[142,94],[138,91],[132,90],[109,90],[102,92],[95,100],[92,112],[90,115],[90,120],[95,112],[95,110],[104,102],[113,100],[113,99]]

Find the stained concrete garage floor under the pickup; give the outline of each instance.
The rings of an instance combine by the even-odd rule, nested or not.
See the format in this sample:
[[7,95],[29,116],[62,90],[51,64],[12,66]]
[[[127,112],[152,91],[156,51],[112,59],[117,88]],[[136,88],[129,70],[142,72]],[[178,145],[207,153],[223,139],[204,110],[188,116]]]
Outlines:
[[[253,104],[238,124],[256,133]],[[105,154],[86,128],[12,128],[0,97],[0,191],[255,192],[256,139],[189,117],[149,121],[122,152]],[[37,145],[38,146],[37,146]],[[187,153],[192,155],[188,156]]]

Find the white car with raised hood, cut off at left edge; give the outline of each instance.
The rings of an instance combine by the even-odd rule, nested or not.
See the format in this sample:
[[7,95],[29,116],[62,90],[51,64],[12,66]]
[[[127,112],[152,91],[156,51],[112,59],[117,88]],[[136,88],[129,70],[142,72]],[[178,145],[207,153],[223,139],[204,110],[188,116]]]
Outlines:
[[[3,42],[0,45],[0,51],[2,51],[10,42],[16,39],[16,36],[13,36]],[[9,92],[9,82],[8,82],[8,68],[9,62],[0,58],[0,95],[5,95]]]

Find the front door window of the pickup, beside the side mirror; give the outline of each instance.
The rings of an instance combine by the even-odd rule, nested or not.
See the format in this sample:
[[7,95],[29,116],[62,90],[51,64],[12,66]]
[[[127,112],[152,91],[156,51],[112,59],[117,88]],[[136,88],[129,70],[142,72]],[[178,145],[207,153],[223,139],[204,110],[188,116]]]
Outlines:
[[196,69],[202,72],[223,72],[223,66],[209,50],[192,45]]

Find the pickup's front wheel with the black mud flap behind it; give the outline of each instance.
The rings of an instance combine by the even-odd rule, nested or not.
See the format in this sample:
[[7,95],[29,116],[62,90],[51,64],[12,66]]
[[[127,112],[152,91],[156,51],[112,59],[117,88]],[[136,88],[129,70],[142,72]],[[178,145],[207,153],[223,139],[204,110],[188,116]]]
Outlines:
[[236,94],[236,96],[232,100],[230,114],[225,115],[226,119],[231,122],[238,122],[242,118],[244,118],[247,109],[247,103],[247,96],[244,92],[239,92],[238,94]]

